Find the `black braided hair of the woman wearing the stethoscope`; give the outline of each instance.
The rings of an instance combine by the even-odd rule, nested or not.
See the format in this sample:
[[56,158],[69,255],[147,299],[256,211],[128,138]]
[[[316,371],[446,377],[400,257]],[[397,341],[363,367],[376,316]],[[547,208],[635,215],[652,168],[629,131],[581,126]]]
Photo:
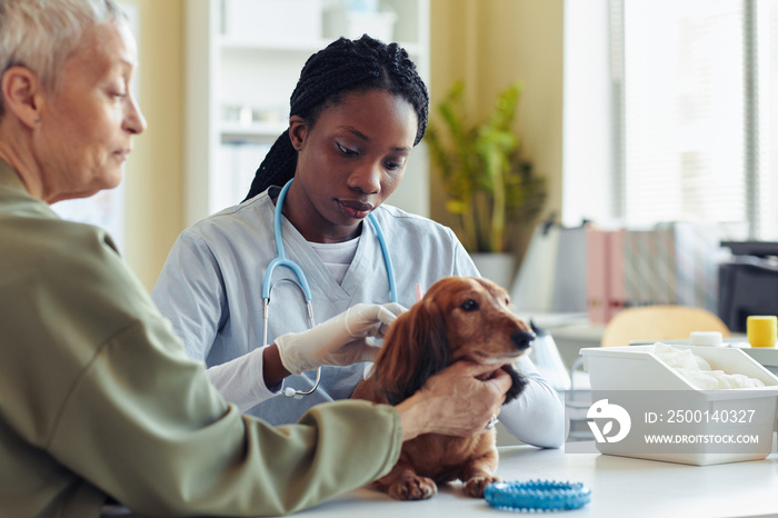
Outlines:
[[[427,129],[427,87],[405,49],[367,34],[358,40],[340,38],[308,58],[289,100],[289,117],[299,116],[312,128],[321,112],[342,102],[346,93],[373,89],[400,96],[413,107],[418,119],[413,146],[419,143]],[[287,129],[257,169],[246,199],[285,185],[296,168],[297,150]]]

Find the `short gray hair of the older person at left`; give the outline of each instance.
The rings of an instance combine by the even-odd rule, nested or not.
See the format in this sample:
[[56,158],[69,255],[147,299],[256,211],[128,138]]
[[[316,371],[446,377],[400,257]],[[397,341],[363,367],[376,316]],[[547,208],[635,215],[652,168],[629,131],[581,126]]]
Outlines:
[[0,74],[21,64],[51,89],[84,32],[114,20],[127,17],[113,0],[0,0]]

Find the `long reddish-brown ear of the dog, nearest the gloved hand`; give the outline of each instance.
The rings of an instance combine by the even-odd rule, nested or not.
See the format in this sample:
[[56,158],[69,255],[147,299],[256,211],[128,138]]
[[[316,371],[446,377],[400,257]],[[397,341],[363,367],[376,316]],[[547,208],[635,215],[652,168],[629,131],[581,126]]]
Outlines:
[[389,329],[376,359],[375,376],[390,405],[411,397],[448,365],[446,322],[431,299],[416,303]]

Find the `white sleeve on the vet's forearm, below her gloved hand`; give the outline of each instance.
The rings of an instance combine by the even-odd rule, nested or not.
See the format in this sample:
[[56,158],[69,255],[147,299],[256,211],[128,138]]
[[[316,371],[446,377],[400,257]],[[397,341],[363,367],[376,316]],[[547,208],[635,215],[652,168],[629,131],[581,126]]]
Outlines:
[[[241,412],[278,395],[278,391],[272,391],[265,385],[262,350],[260,347],[248,355],[208,369],[211,383]],[[280,388],[281,383],[278,383],[278,387]]]

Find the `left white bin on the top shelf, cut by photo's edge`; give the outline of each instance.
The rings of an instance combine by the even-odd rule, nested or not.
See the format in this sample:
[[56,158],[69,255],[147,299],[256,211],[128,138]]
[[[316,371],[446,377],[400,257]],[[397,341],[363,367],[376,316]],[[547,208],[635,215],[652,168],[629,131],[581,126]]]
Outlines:
[[247,43],[317,43],[322,0],[223,0],[225,37]]

